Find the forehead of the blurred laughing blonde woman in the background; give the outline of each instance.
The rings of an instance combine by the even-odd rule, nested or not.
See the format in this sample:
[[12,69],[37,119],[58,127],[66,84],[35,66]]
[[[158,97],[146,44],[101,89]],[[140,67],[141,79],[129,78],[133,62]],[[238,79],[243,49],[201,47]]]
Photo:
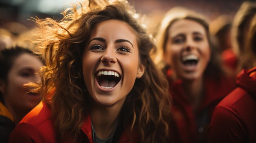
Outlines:
[[187,19],[181,19],[173,22],[173,24],[170,26],[168,33],[171,36],[175,36],[180,33],[201,33],[202,35],[206,35],[206,31],[204,29],[204,26],[202,24],[194,21],[194,20],[187,20]]

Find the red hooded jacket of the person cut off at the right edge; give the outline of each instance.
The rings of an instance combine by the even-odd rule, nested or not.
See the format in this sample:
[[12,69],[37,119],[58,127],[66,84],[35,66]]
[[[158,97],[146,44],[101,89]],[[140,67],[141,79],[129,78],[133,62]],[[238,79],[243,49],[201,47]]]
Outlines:
[[256,67],[242,70],[236,82],[214,109],[209,143],[256,143]]

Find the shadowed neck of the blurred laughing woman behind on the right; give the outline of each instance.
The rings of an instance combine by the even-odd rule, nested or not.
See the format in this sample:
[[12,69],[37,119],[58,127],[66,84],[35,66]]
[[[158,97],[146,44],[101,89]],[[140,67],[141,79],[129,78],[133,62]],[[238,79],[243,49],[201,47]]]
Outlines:
[[183,80],[182,88],[188,96],[193,110],[196,110],[202,101],[202,95],[204,92],[203,77],[195,80]]

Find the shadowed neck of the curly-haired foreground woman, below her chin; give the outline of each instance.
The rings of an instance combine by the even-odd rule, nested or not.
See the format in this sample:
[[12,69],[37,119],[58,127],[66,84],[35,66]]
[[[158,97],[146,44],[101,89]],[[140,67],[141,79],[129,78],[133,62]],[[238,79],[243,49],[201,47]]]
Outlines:
[[97,136],[106,139],[115,129],[117,118],[125,98],[112,106],[102,106],[94,102],[91,108],[91,120]]

